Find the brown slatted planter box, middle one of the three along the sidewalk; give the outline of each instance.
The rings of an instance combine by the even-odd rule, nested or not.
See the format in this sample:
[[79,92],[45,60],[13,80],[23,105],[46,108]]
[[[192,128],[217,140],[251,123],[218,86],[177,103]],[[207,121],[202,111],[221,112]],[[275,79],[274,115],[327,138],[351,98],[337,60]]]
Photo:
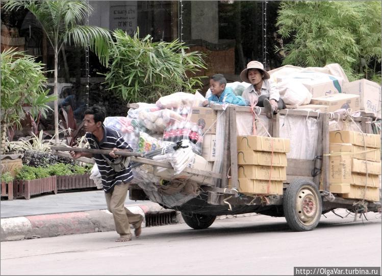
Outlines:
[[54,192],[57,194],[57,178],[56,175],[48,178],[34,180],[14,180],[13,195],[14,197],[23,196],[30,199],[31,195]]

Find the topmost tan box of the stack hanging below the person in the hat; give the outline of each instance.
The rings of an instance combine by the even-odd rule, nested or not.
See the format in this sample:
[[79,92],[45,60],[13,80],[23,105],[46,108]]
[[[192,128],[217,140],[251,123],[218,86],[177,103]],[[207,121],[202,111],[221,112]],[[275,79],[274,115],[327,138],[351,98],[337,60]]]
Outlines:
[[260,152],[289,153],[290,141],[267,136],[238,136],[238,150],[258,150]]

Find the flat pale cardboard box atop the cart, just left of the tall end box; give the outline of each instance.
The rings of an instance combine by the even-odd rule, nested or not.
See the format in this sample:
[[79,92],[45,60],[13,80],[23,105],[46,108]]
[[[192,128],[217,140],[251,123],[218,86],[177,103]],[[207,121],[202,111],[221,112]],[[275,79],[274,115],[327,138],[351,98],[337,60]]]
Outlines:
[[353,94],[334,94],[323,97],[313,97],[311,104],[329,106],[328,112],[334,112],[341,108],[351,108],[351,111],[356,111],[360,110],[360,96]]

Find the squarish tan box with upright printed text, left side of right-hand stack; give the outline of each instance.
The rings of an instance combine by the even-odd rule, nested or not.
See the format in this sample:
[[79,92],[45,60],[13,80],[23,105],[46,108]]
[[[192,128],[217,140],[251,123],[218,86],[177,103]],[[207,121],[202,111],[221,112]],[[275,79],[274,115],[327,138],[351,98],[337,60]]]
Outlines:
[[329,183],[350,183],[351,181],[351,157],[329,157]]

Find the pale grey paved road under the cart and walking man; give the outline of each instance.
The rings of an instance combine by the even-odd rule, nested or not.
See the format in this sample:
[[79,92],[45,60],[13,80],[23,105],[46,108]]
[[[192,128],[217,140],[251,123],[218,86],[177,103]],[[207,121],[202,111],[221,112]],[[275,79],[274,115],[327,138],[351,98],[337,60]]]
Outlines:
[[368,219],[329,213],[314,231],[292,232],[284,218],[258,215],[199,231],[186,224],[146,228],[127,243],[114,242],[115,232],[2,242],[1,272],[293,275],[294,266],[380,266],[380,214]]

